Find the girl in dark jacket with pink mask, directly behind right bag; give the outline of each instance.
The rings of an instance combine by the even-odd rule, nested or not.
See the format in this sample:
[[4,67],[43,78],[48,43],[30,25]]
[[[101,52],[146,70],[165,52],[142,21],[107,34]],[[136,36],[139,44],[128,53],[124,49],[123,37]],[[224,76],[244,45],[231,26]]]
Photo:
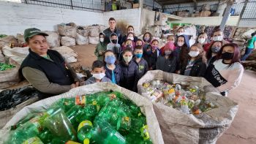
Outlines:
[[161,55],[157,58],[157,69],[173,73],[176,71],[176,57],[173,56],[175,46],[173,42],[167,42]]

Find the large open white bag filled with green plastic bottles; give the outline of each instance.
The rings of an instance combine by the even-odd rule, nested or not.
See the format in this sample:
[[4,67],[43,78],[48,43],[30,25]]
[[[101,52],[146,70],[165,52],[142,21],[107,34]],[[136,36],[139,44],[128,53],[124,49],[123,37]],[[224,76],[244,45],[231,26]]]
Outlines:
[[[110,126],[110,121],[106,122],[105,119],[108,119],[108,118],[105,118],[105,117],[110,117],[110,118],[114,117],[114,119],[115,119],[115,118],[118,118],[118,113],[122,114],[122,113],[128,113],[128,112],[125,111],[127,109],[119,111],[119,107],[121,107],[122,105],[116,105],[116,103],[113,103],[113,101],[114,101],[113,99],[108,101],[106,103],[106,105],[103,106],[103,107],[102,107],[102,104],[100,104],[103,101],[101,101],[101,100],[97,100],[97,101],[90,100],[90,96],[100,97],[99,95],[97,96],[97,94],[99,94],[99,92],[102,92],[104,94],[106,91],[110,92],[110,94],[107,95],[107,96],[111,97],[111,98],[107,97],[109,99],[112,99],[111,94],[114,93],[114,95],[116,95],[116,96],[118,96],[118,94],[119,94],[119,97],[122,97],[122,99],[123,98],[127,99],[127,100],[125,100],[127,102],[125,105],[135,105],[136,108],[133,109],[134,111],[130,111],[130,113],[135,112],[136,110],[140,109],[139,110],[140,113],[137,113],[138,118],[136,119],[135,117],[132,117],[132,116],[131,117],[122,117],[121,118],[121,124],[118,123],[118,122],[120,122],[120,121],[118,121],[116,123],[116,126],[113,126],[113,124],[111,124],[112,125],[112,127],[111,127]],[[113,91],[113,92],[111,92],[111,91]],[[81,96],[83,97],[83,99],[82,99]],[[106,97],[106,96],[104,95],[103,97]],[[61,107],[61,110],[59,110],[59,109],[52,110],[52,107],[55,107],[55,105],[58,104],[58,102],[61,102],[64,105],[69,105],[68,104],[69,102],[67,102],[67,101],[62,102],[61,99],[72,99],[72,100],[74,100],[74,105],[75,106],[72,106],[71,108]],[[114,98],[114,99],[117,99],[117,98]],[[77,121],[78,119],[81,118],[81,117],[77,117],[78,119],[73,118],[75,113],[80,113],[78,111],[75,111],[74,108],[79,107],[80,104],[82,104],[82,102],[86,103],[86,105],[87,105],[87,102],[91,102],[90,104],[94,105],[93,107],[94,107],[94,110],[96,110],[96,111],[98,110],[97,105],[99,105],[102,108],[99,109],[99,113],[94,118],[94,121],[86,119],[86,121],[83,120],[82,122],[80,122],[79,126],[77,126],[77,125],[74,126],[76,124],[75,121]],[[132,102],[132,103],[130,103],[130,102]],[[118,110],[117,112],[114,112],[114,113],[116,113],[116,115],[110,116],[110,111],[113,110],[113,108],[109,109],[107,107],[107,105],[111,105],[111,104],[112,105],[114,104],[115,107],[116,107],[116,110]],[[87,105],[87,106],[89,106],[89,105]],[[128,106],[128,107],[130,107],[130,106]],[[74,109],[74,110],[72,110],[72,109]],[[66,110],[67,110],[67,113],[65,112]],[[68,114],[69,111],[72,112],[71,113],[72,115],[70,115],[70,116]],[[20,133],[17,133],[19,131],[16,131],[16,130],[18,130],[20,128],[24,128],[24,127],[29,128],[29,129],[26,129],[26,131],[30,131],[31,129],[32,130],[33,129],[38,129],[38,128],[34,128],[34,125],[37,125],[37,124],[31,124],[31,123],[34,122],[34,118],[36,118],[37,116],[32,118],[31,120],[29,120],[28,122],[25,122],[25,124],[23,124],[23,126],[19,125],[19,124],[22,124],[22,122],[20,123],[20,120],[25,121],[27,118],[30,118],[30,115],[33,115],[33,113],[41,113],[42,114],[42,116],[37,118],[36,121],[43,121],[42,124],[45,124],[46,128],[48,130],[50,130],[50,132],[54,136],[59,134],[59,135],[62,135],[62,136],[67,135],[67,137],[74,138],[74,135],[76,135],[75,133],[77,133],[78,139],[81,138],[81,137],[84,138],[84,137],[86,137],[86,135],[81,135],[80,131],[82,131],[82,130],[80,130],[80,129],[83,129],[83,131],[85,132],[86,129],[87,129],[87,128],[85,128],[85,126],[90,126],[91,122],[93,122],[95,124],[95,125],[93,124],[93,127],[96,130],[91,132],[92,135],[93,135],[91,137],[93,138],[93,140],[98,140],[98,141],[96,141],[97,143],[103,143],[103,141],[100,141],[100,140],[108,140],[108,143],[109,142],[110,143],[118,143],[115,140],[123,140],[120,143],[127,143],[129,137],[127,138],[127,136],[123,135],[125,138],[124,139],[120,138],[120,137],[123,137],[123,136],[120,135],[120,134],[122,134],[120,131],[122,131],[123,129],[128,128],[127,125],[129,125],[129,124],[128,123],[123,123],[124,121],[127,121],[127,118],[128,118],[128,119],[131,119],[130,123],[134,124],[134,125],[130,124],[131,129],[129,129],[129,130],[131,130],[132,132],[136,131],[137,132],[136,134],[139,133],[139,136],[135,136],[135,134],[133,134],[132,137],[133,136],[134,137],[140,137],[140,134],[142,134],[141,137],[143,137],[143,140],[146,140],[144,138],[147,138],[147,140],[148,140],[148,137],[150,137],[150,139],[151,139],[150,143],[152,143],[152,142],[157,143],[157,144],[164,143],[163,138],[162,138],[162,133],[161,133],[161,130],[159,128],[158,121],[157,121],[157,116],[154,113],[153,105],[151,104],[151,102],[148,101],[148,99],[144,98],[143,96],[140,96],[139,94],[136,94],[136,93],[134,93],[132,91],[129,91],[125,88],[121,88],[121,87],[119,87],[117,85],[114,85],[112,83],[94,83],[92,85],[80,86],[78,88],[73,88],[72,90],[70,90],[67,93],[64,93],[64,94],[61,94],[61,95],[58,95],[58,96],[53,96],[53,97],[50,97],[50,98],[47,98],[47,99],[42,99],[39,102],[35,102],[32,105],[24,107],[22,110],[20,110],[18,113],[16,113],[16,115],[14,115],[12,117],[12,119],[4,126],[3,129],[1,129],[1,131],[0,131],[0,135],[1,135],[0,136],[0,143],[13,142],[13,140],[11,140],[10,137],[12,137],[13,134],[15,134],[15,136],[17,137],[17,135],[20,134]],[[54,113],[54,115],[53,115],[53,113]],[[92,109],[87,110],[83,114],[86,114],[86,113],[93,113]],[[107,113],[107,115],[106,115],[106,113]],[[108,115],[108,113],[109,113],[109,115]],[[132,129],[133,127],[136,127],[137,125],[141,126],[140,121],[132,122],[132,118],[134,118],[134,120],[138,120],[139,118],[141,118],[139,114],[140,115],[146,115],[146,117],[143,116],[143,121],[144,121],[143,122],[143,127],[142,127],[143,129],[135,129],[134,130],[134,129]],[[45,115],[50,115],[50,116],[45,117]],[[84,115],[82,117],[84,118]],[[59,118],[61,118],[61,120],[59,120]],[[124,120],[123,120],[123,118],[124,118]],[[96,119],[97,119],[97,121],[96,121]],[[118,120],[120,120],[120,117],[119,117]],[[140,124],[138,124],[137,122],[140,123]],[[145,122],[146,122],[146,125],[145,125]],[[30,125],[25,126],[26,124],[27,125],[30,124]],[[72,126],[70,127],[71,124],[72,124]],[[102,128],[102,126],[105,126],[105,127],[103,127],[104,129]],[[71,128],[71,129],[69,129],[68,127]],[[113,128],[113,127],[115,127],[115,128]],[[118,127],[118,128],[116,128],[116,127]],[[62,129],[62,128],[67,128],[67,129]],[[74,131],[74,128],[75,129],[77,128],[77,131]],[[102,128],[102,129],[98,130],[98,128]],[[13,130],[13,129],[15,129],[15,130]],[[61,131],[59,131],[59,129],[61,129]],[[118,132],[120,132],[120,133],[118,133],[117,130],[115,131],[115,129],[119,129]],[[113,133],[109,134],[110,137],[108,137],[108,136],[106,136],[108,134],[108,132],[105,132],[105,131],[113,132]],[[23,129],[20,129],[20,132],[24,133]],[[33,132],[38,133],[38,130],[36,130],[36,131],[33,130]],[[42,132],[40,131],[39,134],[35,134],[36,136],[31,137],[30,134],[34,134],[33,132],[30,132],[29,134],[20,134],[20,135],[25,135],[23,137],[29,137],[29,138],[26,138],[26,139],[21,137],[21,138],[23,138],[23,140],[25,140],[24,142],[26,142],[28,140],[30,140],[30,141],[34,140],[34,141],[38,142],[41,139],[41,136],[45,137],[43,135],[45,134],[45,132],[48,132],[48,131],[42,130]],[[103,133],[101,133],[101,132],[103,132]],[[124,132],[127,132],[127,131],[124,131]],[[95,133],[97,133],[97,134],[95,134]],[[144,137],[143,134],[146,134],[146,137]],[[106,139],[105,139],[105,136],[107,137]],[[104,138],[102,138],[102,137],[104,137]],[[114,139],[113,137],[117,137],[117,138]],[[18,137],[18,138],[20,138],[20,137]],[[58,138],[58,137],[54,137],[53,139],[55,140],[56,138]],[[66,139],[66,137],[64,137],[64,139]],[[8,141],[8,140],[10,140],[10,141]],[[18,139],[18,140],[15,139],[15,140],[20,141],[20,139]],[[42,139],[42,141],[43,140],[47,140],[47,137],[46,137],[46,139]],[[71,140],[73,140],[73,139],[71,139]],[[91,139],[89,139],[89,140],[91,141]],[[132,141],[132,140],[133,139],[130,139],[129,141]],[[74,141],[77,141],[77,140],[74,140]],[[51,142],[53,143],[53,141],[51,141]],[[65,141],[64,143],[66,143],[66,142],[67,141]],[[87,143],[87,138],[82,139],[82,142]],[[146,141],[144,141],[144,143],[145,142]]]

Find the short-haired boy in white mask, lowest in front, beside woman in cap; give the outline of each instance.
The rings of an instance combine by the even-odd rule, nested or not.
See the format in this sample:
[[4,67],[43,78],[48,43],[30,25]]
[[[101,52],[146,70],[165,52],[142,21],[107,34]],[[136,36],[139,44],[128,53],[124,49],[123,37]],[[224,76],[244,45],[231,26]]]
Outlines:
[[94,61],[92,64],[92,77],[89,77],[88,80],[86,80],[86,85],[92,84],[92,83],[100,83],[100,82],[110,82],[111,80],[108,77],[105,77],[105,69],[104,64],[102,61]]

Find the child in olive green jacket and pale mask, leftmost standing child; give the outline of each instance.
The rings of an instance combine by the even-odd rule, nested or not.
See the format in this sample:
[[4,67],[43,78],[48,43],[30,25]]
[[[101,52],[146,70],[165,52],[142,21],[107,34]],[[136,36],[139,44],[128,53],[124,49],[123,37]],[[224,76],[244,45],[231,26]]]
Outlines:
[[94,51],[95,56],[99,61],[103,61],[103,53],[107,50],[107,44],[104,42],[105,35],[103,33],[99,33],[99,43],[96,46]]

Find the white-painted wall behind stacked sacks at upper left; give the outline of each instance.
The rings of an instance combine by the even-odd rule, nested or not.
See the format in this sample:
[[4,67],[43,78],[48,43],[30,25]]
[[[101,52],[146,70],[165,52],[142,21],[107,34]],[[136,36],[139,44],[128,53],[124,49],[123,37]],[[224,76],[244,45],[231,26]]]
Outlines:
[[103,13],[18,4],[0,1],[0,34],[22,34],[24,29],[37,27],[54,31],[59,23],[77,25],[104,24]]

